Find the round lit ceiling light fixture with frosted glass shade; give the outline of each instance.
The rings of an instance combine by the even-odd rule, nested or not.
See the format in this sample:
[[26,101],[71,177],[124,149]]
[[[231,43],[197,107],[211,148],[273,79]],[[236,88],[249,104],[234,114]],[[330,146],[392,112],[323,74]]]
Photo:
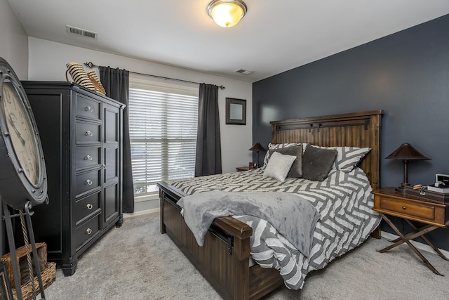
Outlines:
[[241,0],[213,0],[208,5],[208,15],[221,27],[232,27],[236,25],[248,8]]

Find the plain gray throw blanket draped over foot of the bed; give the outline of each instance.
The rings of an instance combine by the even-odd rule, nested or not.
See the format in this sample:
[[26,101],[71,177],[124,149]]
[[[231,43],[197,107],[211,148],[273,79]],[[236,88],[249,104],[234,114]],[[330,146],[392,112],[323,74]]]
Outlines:
[[251,215],[271,223],[304,256],[309,256],[320,217],[311,202],[283,192],[205,192],[182,197],[177,204],[199,246],[215,218]]

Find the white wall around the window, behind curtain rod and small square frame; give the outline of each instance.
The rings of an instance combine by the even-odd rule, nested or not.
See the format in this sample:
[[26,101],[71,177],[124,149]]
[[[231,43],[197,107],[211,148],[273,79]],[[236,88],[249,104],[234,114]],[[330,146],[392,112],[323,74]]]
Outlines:
[[[65,64],[71,61],[92,62],[95,65],[119,67],[133,72],[226,86],[226,89],[218,91],[222,170],[223,172],[233,172],[236,167],[247,166],[248,162],[252,160],[253,153],[248,149],[252,146],[253,84],[29,37],[29,80],[65,81],[65,71],[67,70]],[[225,98],[227,97],[246,99],[246,125],[225,124]]]

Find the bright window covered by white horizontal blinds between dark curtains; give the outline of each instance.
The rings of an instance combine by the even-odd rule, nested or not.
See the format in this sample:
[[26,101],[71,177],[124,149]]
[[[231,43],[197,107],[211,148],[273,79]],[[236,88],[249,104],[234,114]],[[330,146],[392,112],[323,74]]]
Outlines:
[[128,111],[135,195],[194,177],[198,88],[130,79]]

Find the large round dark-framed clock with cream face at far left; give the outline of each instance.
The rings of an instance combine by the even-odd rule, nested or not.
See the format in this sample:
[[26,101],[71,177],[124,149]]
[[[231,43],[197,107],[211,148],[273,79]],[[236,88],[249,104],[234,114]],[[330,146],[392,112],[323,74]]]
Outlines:
[[14,209],[47,199],[41,139],[27,94],[11,66],[0,58],[0,197]]

